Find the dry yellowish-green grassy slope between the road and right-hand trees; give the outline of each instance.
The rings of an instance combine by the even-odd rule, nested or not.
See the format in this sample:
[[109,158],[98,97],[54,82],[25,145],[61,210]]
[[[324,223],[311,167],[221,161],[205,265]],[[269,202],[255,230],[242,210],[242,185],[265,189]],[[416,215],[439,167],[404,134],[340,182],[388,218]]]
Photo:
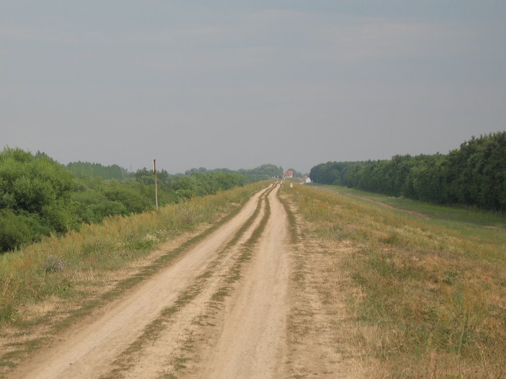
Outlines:
[[285,193],[302,232],[328,249],[322,291],[347,294],[335,327],[369,375],[504,377],[506,217],[332,189]]

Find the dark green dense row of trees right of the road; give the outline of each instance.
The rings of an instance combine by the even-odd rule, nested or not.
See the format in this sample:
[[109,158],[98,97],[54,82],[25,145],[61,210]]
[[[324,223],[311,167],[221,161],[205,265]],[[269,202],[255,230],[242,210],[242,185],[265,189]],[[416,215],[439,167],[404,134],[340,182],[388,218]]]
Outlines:
[[321,163],[310,177],[317,183],[506,212],[506,131],[472,137],[446,155]]

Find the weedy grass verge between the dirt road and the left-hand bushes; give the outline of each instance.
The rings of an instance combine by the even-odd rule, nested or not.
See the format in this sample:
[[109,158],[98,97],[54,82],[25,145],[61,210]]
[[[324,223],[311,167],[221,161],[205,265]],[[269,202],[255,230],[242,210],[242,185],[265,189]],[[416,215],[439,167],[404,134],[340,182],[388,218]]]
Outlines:
[[237,187],[168,205],[156,213],[109,217],[0,256],[0,336],[4,340],[0,365],[15,365],[74,318],[89,314],[157,272],[232,217],[240,204],[266,185]]

